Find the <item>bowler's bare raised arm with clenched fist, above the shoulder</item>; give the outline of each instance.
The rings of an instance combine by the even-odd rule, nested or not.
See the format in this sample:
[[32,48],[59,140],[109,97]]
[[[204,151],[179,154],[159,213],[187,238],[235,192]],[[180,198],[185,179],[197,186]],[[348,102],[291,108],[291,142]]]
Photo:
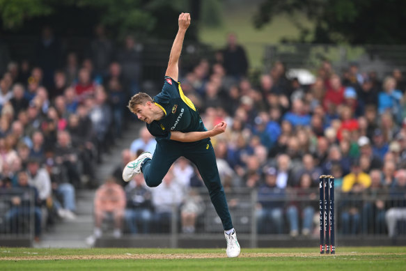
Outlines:
[[176,34],[175,40],[173,40],[173,45],[171,49],[171,54],[169,55],[168,68],[166,68],[165,76],[172,77],[173,80],[178,81],[178,62],[180,57],[180,52],[182,52],[183,39],[185,38],[185,33],[190,25],[190,14],[181,13],[178,19],[179,29]]

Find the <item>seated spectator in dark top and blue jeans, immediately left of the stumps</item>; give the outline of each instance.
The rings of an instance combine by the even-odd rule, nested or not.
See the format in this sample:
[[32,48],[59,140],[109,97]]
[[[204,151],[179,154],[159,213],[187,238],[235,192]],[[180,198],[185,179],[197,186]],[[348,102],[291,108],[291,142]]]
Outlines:
[[313,230],[313,216],[316,210],[315,201],[317,198],[315,183],[309,173],[304,173],[299,180],[299,187],[292,190],[295,199],[289,203],[286,216],[290,225],[290,236],[296,237],[299,234],[299,221],[302,221],[302,234],[309,235]]

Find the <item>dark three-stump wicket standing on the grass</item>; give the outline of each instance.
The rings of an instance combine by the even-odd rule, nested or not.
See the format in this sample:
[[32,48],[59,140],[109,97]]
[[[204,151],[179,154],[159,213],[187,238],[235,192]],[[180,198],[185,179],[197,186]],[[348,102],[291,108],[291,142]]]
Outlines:
[[320,188],[320,254],[336,254],[334,240],[334,176],[321,175]]

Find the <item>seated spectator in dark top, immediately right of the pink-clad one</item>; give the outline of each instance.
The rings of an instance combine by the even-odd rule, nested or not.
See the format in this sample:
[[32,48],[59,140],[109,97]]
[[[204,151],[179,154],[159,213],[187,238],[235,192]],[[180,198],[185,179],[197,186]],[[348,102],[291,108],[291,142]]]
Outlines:
[[[142,174],[137,174],[125,187],[127,206],[125,224],[130,233],[150,233],[153,218],[152,196]],[[141,225],[141,231],[138,228]]]

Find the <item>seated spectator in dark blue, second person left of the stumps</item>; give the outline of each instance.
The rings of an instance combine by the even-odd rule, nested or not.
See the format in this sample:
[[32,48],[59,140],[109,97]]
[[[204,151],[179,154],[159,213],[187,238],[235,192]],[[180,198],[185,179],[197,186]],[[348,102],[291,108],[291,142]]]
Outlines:
[[256,219],[258,233],[283,233],[283,206],[285,189],[276,185],[276,169],[265,171],[265,183],[258,188]]

